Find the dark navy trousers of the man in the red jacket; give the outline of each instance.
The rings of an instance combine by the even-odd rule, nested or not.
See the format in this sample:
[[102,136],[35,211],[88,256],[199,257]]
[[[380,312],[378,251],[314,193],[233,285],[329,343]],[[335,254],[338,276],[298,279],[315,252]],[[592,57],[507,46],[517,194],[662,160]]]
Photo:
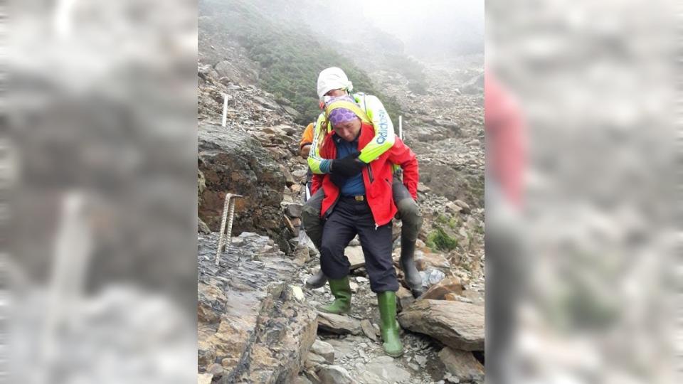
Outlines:
[[391,260],[391,222],[375,227],[367,201],[339,198],[322,231],[320,267],[330,279],[349,274],[349,259],[344,248],[358,234],[365,256],[365,269],[372,292],[398,291],[396,270]]

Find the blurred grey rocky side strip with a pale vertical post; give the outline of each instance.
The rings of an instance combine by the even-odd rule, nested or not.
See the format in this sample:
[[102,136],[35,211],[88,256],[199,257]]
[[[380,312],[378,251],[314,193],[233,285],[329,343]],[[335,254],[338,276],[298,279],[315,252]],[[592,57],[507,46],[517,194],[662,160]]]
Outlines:
[[0,13],[0,380],[195,380],[196,3]]

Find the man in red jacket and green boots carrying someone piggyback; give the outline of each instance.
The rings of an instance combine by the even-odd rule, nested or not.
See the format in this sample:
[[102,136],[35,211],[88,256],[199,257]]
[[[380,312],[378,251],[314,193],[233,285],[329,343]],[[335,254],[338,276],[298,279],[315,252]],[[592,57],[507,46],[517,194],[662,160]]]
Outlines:
[[[358,235],[370,289],[378,298],[383,349],[389,356],[401,356],[403,346],[396,322],[398,279],[391,258],[391,220],[397,212],[392,193],[393,164],[403,169],[403,186],[414,199],[419,178],[418,161],[413,151],[398,138],[369,164],[357,159],[359,151],[371,142],[376,132],[369,117],[350,96],[327,100],[325,114],[332,132],[325,134],[319,156],[329,161],[333,171],[315,174],[312,192],[314,195],[319,191],[323,193],[319,210],[325,220],[320,266],[329,278],[335,299],[319,310],[342,314],[351,308],[350,264],[344,256],[344,248]],[[358,172],[334,171],[340,164],[341,169],[351,168],[352,163],[361,164]]]

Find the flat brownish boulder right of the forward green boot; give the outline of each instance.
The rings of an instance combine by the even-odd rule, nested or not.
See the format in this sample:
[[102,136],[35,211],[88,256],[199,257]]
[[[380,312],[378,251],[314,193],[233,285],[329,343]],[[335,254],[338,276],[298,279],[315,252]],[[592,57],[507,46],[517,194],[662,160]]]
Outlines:
[[405,329],[463,351],[484,351],[484,307],[446,300],[417,300],[398,315]]

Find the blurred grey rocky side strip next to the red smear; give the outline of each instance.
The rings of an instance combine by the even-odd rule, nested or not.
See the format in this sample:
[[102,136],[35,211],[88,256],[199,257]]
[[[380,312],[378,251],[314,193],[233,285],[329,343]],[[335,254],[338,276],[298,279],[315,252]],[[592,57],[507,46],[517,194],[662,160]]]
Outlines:
[[[487,196],[487,262],[517,266],[492,293],[514,312],[499,340],[487,329],[509,339],[496,383],[678,383],[680,6],[486,5],[487,66],[528,142],[524,204]],[[489,250],[509,237],[524,250]]]

